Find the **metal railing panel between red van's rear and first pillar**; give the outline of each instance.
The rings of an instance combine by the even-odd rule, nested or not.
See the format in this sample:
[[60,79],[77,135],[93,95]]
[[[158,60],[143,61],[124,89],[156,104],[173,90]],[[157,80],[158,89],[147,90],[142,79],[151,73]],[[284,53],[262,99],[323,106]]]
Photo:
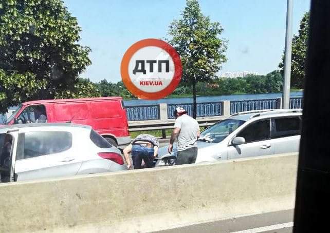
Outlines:
[[126,106],[128,121],[159,120],[159,105]]

